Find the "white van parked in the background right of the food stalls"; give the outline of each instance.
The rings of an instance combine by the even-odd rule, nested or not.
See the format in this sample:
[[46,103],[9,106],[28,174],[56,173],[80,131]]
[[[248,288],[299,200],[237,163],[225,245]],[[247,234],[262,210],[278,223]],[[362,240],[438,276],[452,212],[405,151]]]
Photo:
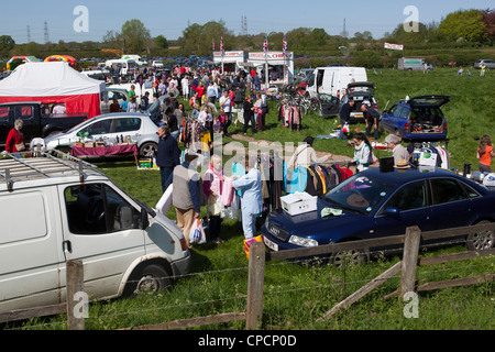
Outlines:
[[317,67],[314,77],[308,80],[306,94],[311,97],[318,95],[329,95],[340,99],[351,80],[367,81],[366,69],[364,67]]

